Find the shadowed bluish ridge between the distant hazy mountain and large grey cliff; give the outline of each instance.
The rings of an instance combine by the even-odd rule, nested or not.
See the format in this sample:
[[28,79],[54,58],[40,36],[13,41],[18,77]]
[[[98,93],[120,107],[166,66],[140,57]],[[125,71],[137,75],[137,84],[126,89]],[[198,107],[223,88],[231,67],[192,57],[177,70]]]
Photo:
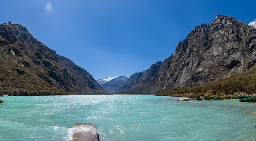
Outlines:
[[121,88],[120,92],[139,88],[141,86],[148,86],[161,65],[162,62],[159,61],[151,65],[151,67],[145,70],[144,72],[134,73],[130,76],[129,80],[125,84],[123,84],[123,87]]

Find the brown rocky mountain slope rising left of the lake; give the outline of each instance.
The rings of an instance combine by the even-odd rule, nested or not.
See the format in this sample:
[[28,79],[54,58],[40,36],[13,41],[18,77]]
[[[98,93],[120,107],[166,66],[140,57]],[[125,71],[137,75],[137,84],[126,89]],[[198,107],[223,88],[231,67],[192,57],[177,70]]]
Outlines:
[[[21,24],[8,22],[0,25],[1,94],[51,95],[59,90],[103,94],[89,73],[71,63],[73,68],[69,68],[66,60],[62,59],[62,63],[55,51],[33,38]],[[81,80],[83,78],[85,80]]]

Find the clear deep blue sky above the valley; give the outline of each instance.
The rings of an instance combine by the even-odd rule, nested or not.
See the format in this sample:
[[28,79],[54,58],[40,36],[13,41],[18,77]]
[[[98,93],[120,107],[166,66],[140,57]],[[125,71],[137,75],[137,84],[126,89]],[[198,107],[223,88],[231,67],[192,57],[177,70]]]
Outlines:
[[141,72],[171,56],[215,14],[249,23],[256,0],[1,0],[0,23],[21,24],[95,79]]

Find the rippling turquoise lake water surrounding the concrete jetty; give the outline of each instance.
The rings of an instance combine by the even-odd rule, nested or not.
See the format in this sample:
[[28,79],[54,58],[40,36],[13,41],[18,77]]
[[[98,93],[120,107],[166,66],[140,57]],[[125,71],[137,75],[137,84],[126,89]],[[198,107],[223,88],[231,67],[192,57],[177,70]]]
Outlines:
[[92,122],[101,141],[256,141],[256,104],[155,95],[0,97],[0,141],[70,141]]

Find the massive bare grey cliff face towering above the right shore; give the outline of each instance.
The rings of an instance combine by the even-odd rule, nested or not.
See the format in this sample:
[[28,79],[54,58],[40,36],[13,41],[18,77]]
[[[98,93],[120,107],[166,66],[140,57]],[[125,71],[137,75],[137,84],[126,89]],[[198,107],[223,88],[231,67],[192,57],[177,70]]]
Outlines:
[[232,16],[216,15],[178,43],[150,83],[150,92],[192,87],[254,68],[256,30]]

